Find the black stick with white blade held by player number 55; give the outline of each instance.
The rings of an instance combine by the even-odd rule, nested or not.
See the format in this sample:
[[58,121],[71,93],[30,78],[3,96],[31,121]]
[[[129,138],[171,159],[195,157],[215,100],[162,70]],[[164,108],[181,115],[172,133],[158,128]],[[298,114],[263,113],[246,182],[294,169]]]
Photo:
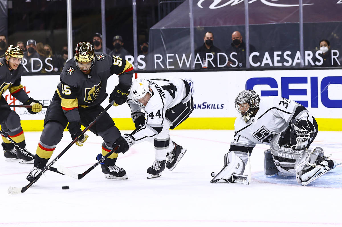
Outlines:
[[[88,126],[87,126],[87,128],[85,128],[83,131],[82,131],[82,133],[85,133],[85,132],[87,132],[88,131],[88,129],[90,129],[90,127],[91,126],[93,126],[93,124],[100,118],[100,117],[102,117],[104,114],[105,114],[105,112],[107,112],[107,110],[111,107],[111,106],[113,106],[114,105],[114,101],[112,101],[99,115],[97,115],[97,117],[94,119],[94,121],[93,122],[91,122]],[[25,187],[22,187],[22,188],[17,188],[17,187],[9,187],[8,188],[8,193],[9,194],[12,194],[12,195],[16,195],[16,194],[19,194],[19,193],[24,193],[33,183],[35,183],[38,179],[39,179],[39,177],[41,177],[41,175],[45,172],[45,171],[47,171],[50,167],[51,167],[51,165],[53,165],[59,158],[61,158],[61,156],[62,155],[64,155],[64,153],[71,147],[71,146],[73,146],[73,144],[74,143],[76,143],[76,141],[77,141],[77,138],[75,138],[68,146],[66,146],[66,148],[64,148],[64,150],[62,150],[62,152],[61,153],[59,153],[58,155],[57,155],[57,157],[56,158],[54,158],[47,166],[45,166],[43,169],[42,169],[42,171],[30,182],[30,183],[28,183]]]

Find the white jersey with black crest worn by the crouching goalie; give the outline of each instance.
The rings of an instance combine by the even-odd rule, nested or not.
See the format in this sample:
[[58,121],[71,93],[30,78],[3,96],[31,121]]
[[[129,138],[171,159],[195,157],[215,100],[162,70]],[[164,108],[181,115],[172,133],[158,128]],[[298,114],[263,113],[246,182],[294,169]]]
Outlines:
[[257,114],[247,123],[241,115],[235,120],[234,141],[229,150],[240,154],[238,156],[247,163],[246,157],[241,155],[247,156],[256,144],[269,145],[275,134],[287,130],[291,119],[305,120],[308,124],[314,121],[311,113],[294,101],[278,96],[262,97]]

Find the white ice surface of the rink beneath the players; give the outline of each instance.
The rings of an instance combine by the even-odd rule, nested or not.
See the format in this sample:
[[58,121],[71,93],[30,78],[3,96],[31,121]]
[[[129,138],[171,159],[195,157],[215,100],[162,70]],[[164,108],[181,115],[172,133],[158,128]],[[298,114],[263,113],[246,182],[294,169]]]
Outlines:
[[[265,177],[267,146],[257,145],[251,155],[250,185],[211,184],[210,173],[221,170],[233,131],[170,134],[187,152],[172,172],[166,169],[155,179],[146,179],[154,149],[144,142],[119,155],[117,165],[126,170],[128,180],[106,179],[100,166],[80,180],[47,171],[23,194],[9,195],[9,186],[28,184],[33,165],[6,162],[0,155],[0,226],[342,226],[342,165],[302,187],[294,177]],[[79,173],[94,164],[102,140],[88,135],[83,147],[74,145],[55,164]],[[25,132],[31,153],[39,136]],[[342,132],[320,131],[312,147],[320,146],[342,162],[341,138]],[[70,142],[65,132],[52,158]]]

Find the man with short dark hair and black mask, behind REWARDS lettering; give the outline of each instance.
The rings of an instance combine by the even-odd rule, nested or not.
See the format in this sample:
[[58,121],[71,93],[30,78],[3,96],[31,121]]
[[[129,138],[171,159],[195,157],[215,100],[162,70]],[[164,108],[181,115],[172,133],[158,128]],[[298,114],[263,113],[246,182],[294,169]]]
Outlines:
[[[203,45],[195,50],[195,56],[199,55],[202,64],[196,63],[195,68],[217,68],[217,53],[221,52],[221,50],[214,46],[214,34],[211,31],[206,32],[203,41]],[[207,53],[210,54],[207,56]],[[211,54],[213,54],[213,59],[211,59]]]

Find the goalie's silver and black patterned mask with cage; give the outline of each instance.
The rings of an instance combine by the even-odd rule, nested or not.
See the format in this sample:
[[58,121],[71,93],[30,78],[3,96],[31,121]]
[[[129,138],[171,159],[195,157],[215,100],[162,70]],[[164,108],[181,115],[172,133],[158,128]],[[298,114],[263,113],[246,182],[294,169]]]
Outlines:
[[[260,97],[253,90],[244,90],[235,98],[235,108],[247,123],[255,110],[259,109]],[[248,105],[247,105],[248,104]]]

